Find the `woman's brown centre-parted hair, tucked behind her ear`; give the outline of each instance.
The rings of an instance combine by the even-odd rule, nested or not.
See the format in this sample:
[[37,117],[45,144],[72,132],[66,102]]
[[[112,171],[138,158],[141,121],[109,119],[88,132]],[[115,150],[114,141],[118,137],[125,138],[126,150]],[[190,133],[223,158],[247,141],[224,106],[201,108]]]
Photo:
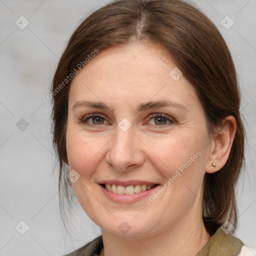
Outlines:
[[174,59],[199,96],[210,132],[220,125],[223,117],[235,117],[237,128],[228,160],[221,170],[205,173],[202,201],[202,218],[208,233],[213,234],[226,220],[232,223],[234,231],[235,184],[244,161],[244,128],[236,72],[228,47],[214,24],[197,8],[181,0],[113,1],[91,13],[71,35],[51,87],[53,144],[59,161],[59,191],[63,189],[59,195],[60,208],[63,199],[70,206],[73,197],[65,164],[71,79],[64,85],[63,81],[95,49],[100,51],[134,41],[160,45]]

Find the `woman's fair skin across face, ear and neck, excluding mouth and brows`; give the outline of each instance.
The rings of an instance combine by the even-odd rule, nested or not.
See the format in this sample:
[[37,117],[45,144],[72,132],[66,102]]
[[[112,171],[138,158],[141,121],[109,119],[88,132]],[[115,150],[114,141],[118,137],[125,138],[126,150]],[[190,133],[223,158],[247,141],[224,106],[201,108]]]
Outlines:
[[[225,164],[236,123],[233,116],[227,116],[218,134],[210,136],[203,107],[191,84],[184,75],[178,80],[169,75],[174,67],[158,46],[133,43],[99,51],[72,80],[67,158],[70,170],[80,175],[72,183],[77,200],[101,228],[104,248],[100,256],[191,256],[211,237],[201,217],[203,176]],[[109,109],[84,105],[72,109],[82,100],[103,102]],[[156,100],[171,100],[182,107],[137,111],[140,103]],[[79,121],[89,113],[102,117]],[[161,113],[173,122],[150,116]],[[123,118],[131,123],[126,131],[118,126]],[[149,201],[149,195],[198,151],[200,155],[181,175]],[[99,185],[106,179],[160,185],[138,201],[115,202]],[[125,233],[118,228],[123,221],[129,226]]]

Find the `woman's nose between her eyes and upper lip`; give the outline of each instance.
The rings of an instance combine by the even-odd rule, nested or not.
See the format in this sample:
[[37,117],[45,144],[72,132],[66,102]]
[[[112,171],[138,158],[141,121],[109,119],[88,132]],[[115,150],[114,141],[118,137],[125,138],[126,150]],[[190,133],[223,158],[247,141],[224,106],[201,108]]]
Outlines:
[[116,134],[109,141],[105,160],[114,170],[131,171],[144,162],[143,145],[132,126],[126,131],[117,127]]

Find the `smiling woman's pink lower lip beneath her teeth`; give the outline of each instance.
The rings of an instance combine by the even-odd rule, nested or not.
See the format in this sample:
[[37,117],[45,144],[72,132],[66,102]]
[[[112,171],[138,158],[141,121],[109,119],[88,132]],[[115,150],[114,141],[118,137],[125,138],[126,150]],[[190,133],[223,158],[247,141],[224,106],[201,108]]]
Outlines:
[[136,202],[142,198],[145,198],[148,196],[150,193],[154,192],[154,190],[159,186],[155,185],[149,190],[141,191],[139,193],[134,193],[134,194],[117,194],[117,193],[112,193],[105,189],[102,185],[99,185],[101,187],[102,192],[104,195],[109,198],[110,200],[118,203],[133,203]]

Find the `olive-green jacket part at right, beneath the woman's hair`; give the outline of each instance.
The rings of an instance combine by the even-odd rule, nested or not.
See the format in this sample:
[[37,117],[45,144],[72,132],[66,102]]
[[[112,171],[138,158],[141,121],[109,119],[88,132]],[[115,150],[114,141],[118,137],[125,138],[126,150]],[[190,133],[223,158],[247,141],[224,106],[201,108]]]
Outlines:
[[196,256],[238,256],[242,246],[240,239],[218,228]]

